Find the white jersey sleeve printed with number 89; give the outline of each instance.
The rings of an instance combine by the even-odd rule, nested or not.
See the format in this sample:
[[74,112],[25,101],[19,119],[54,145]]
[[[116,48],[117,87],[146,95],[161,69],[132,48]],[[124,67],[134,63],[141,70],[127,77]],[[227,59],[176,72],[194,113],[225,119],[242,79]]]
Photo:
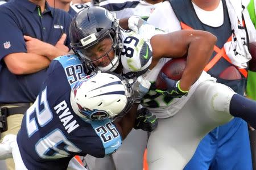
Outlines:
[[146,73],[152,62],[150,39],[160,33],[165,32],[146,22],[139,28],[139,33],[123,31],[121,62],[126,77],[131,78],[130,75],[134,73],[136,76]]

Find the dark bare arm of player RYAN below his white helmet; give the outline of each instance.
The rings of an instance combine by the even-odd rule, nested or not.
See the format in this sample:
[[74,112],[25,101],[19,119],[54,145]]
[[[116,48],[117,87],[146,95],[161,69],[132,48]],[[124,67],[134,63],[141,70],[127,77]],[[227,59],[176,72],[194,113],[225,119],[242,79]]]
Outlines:
[[138,104],[134,104],[129,113],[114,121],[114,125],[117,127],[119,133],[121,134],[122,140],[125,139],[130,133],[131,129],[133,129],[137,109]]

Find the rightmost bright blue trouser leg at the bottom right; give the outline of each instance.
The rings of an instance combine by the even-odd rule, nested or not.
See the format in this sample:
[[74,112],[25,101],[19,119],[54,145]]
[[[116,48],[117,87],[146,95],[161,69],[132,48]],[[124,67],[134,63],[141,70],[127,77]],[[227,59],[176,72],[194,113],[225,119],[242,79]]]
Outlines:
[[210,169],[253,169],[247,123],[234,118],[220,126],[219,132],[218,149]]

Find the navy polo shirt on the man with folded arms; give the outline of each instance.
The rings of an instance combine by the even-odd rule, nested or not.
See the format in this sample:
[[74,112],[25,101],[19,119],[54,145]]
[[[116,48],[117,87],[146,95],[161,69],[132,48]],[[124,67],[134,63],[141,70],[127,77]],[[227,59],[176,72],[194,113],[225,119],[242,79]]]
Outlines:
[[[69,32],[71,15],[46,3],[40,7],[28,0],[13,0],[0,6],[0,103],[31,103],[35,101],[47,69],[34,74],[14,75],[7,69],[3,57],[11,53],[26,53],[23,35],[55,45],[62,33]],[[62,31],[61,31],[61,28]],[[69,46],[67,38],[65,45]]]

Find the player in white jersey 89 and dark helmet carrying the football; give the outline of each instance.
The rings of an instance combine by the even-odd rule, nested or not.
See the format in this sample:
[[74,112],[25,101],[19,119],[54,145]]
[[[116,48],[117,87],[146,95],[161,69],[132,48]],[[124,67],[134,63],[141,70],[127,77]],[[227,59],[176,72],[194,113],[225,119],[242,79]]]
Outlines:
[[[142,24],[139,34],[123,31],[107,10],[90,7],[71,23],[73,50],[90,69],[115,71],[129,78],[142,76],[152,83],[141,104],[159,117],[148,141],[150,169],[183,169],[200,139],[216,126],[241,117],[256,126],[256,103],[216,83],[203,71],[216,42],[209,32],[182,30],[160,34]],[[166,80],[166,91],[154,82],[168,58],[187,56],[179,81]]]

